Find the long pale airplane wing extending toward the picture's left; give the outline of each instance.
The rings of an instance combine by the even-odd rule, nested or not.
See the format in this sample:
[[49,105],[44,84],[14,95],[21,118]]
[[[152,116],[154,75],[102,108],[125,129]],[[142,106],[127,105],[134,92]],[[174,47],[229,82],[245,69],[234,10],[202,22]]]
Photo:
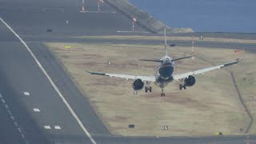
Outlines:
[[109,76],[110,78],[125,78],[126,80],[129,79],[142,79],[142,81],[148,81],[148,82],[155,82],[154,76],[138,76],[138,75],[127,75],[127,74],[108,74],[108,73],[98,73],[98,72],[90,72],[87,71],[90,74],[94,75],[102,75],[102,76]]

